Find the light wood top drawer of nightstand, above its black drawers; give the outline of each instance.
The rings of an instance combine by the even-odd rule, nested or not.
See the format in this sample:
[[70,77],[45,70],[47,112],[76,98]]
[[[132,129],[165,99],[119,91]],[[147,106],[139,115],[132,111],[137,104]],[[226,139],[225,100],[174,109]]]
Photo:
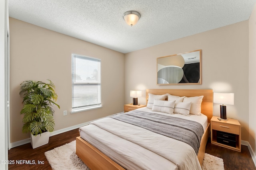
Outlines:
[[212,129],[227,133],[233,133],[236,135],[240,134],[239,126],[231,125],[228,123],[221,123],[221,122],[212,122]]

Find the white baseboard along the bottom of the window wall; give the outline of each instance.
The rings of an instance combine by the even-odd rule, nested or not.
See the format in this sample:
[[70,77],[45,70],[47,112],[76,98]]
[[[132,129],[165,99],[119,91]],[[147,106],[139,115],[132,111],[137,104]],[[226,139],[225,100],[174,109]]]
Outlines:
[[[120,112],[120,113],[124,113],[124,112]],[[117,115],[117,114],[120,114],[120,113],[116,113],[116,114],[113,114],[113,115]],[[112,115],[109,115],[109,116],[106,116],[106,117],[110,117],[110,116],[112,116]],[[102,117],[102,118],[104,118],[104,117]],[[99,119],[102,119],[102,118],[99,118]],[[98,120],[98,119],[96,119],[96,120]],[[92,120],[92,121],[94,121],[94,120]],[[88,125],[88,124],[89,124],[90,122],[92,122],[92,121],[87,121],[87,122],[85,122],[85,123],[81,123],[81,124],[78,124],[78,125],[66,127],[66,128],[64,128],[64,129],[60,129],[60,130],[58,130],[58,131],[53,131],[53,132],[50,133],[50,137],[51,137],[51,136],[54,136],[54,135],[58,135],[58,134],[60,134],[60,133],[64,133],[64,132],[67,132],[67,131],[71,131],[71,130],[74,130],[74,129],[78,129],[79,127]],[[23,139],[23,140],[21,140],[21,141],[17,141],[17,142],[10,143],[8,149],[10,150],[10,149],[12,149],[12,148],[14,148],[14,147],[18,147],[18,146],[20,146],[20,145],[24,145],[24,144],[27,144],[27,143],[30,143],[30,138],[27,138],[27,139]]]

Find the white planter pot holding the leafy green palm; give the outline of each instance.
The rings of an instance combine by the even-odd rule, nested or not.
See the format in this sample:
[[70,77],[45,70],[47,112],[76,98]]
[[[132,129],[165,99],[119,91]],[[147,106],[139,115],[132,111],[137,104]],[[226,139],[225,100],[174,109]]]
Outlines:
[[32,145],[32,148],[35,149],[42,145],[46,145],[47,143],[49,143],[49,137],[50,137],[50,132],[44,132],[41,135],[38,134],[36,136],[30,133],[30,143]]

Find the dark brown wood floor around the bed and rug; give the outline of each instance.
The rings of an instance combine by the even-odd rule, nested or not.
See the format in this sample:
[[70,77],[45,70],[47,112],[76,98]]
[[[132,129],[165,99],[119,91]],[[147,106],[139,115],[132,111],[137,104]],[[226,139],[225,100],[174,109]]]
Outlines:
[[[44,152],[54,149],[66,143],[70,143],[79,136],[78,129],[68,131],[59,135],[50,137],[49,143],[42,147],[32,149],[30,143],[15,147],[9,150],[8,160],[33,160],[44,162],[44,164],[9,164],[9,170],[51,170],[51,166],[48,163]],[[242,145],[242,152],[236,152],[230,149],[218,147],[212,145],[210,140],[206,145],[206,153],[212,154],[224,161],[225,170],[256,170],[248,147]]]

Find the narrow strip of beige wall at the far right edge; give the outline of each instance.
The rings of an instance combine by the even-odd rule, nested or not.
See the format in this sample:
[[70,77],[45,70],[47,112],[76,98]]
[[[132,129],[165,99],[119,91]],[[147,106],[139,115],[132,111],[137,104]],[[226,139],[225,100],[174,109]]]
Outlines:
[[[249,19],[249,143],[256,154],[256,5]],[[254,155],[255,156],[255,155]]]

